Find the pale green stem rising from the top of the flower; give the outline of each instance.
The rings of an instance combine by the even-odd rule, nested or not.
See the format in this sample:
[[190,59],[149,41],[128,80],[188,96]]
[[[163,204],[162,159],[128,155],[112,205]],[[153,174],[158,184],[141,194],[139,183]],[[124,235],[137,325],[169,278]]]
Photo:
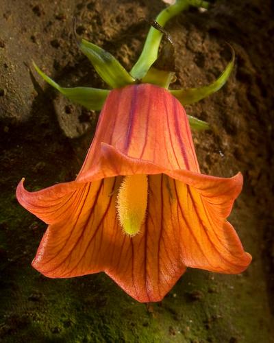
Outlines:
[[[179,14],[179,12],[187,10],[189,5],[208,8],[209,3],[199,0],[177,0],[174,5],[170,5],[168,8],[162,10],[162,12],[158,14],[155,21],[157,21],[157,23],[164,27],[169,19]],[[158,29],[155,29],[154,27],[151,27],[149,29],[149,33],[147,34],[147,39],[142,49],[142,53],[138,58],[138,61],[136,62],[136,64],[134,64],[134,67],[130,71],[130,74],[133,78],[141,80],[145,76],[151,65],[155,62],[155,60],[157,60],[158,49],[160,46],[162,35],[162,32],[160,32]]]

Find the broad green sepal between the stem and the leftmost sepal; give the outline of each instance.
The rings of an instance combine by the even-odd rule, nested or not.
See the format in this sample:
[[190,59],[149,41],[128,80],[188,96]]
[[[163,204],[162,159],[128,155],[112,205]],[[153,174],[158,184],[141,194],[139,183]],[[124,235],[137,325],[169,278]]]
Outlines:
[[88,57],[97,73],[110,87],[120,88],[136,82],[132,78],[132,75],[108,51],[85,39],[82,39],[79,48]]

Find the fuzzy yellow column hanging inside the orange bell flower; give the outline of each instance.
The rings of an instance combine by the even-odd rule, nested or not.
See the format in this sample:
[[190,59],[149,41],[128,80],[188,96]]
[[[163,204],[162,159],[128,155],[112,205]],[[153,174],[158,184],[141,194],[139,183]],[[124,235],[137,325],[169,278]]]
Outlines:
[[119,222],[127,235],[136,235],[147,210],[147,175],[125,176],[119,188],[116,208]]

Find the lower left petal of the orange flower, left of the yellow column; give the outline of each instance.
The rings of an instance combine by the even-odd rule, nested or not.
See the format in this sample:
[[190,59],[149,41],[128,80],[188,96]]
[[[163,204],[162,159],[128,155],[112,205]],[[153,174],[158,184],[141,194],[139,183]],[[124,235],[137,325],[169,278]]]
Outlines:
[[34,268],[58,278],[104,270],[110,250],[119,244],[114,230],[115,187],[116,178],[82,185],[74,211],[47,228],[32,263]]

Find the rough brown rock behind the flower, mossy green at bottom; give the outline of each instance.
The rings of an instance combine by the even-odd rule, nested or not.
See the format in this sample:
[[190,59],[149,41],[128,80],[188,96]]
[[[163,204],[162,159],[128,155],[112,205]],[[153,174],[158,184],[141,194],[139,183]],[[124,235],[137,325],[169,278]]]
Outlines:
[[[237,276],[188,270],[162,303],[136,303],[104,274],[53,280],[30,262],[45,224],[16,202],[28,189],[72,180],[97,113],[75,106],[35,73],[32,60],[64,86],[105,86],[79,53],[80,36],[130,69],[160,0],[2,0],[0,3],[1,342],[273,342],[273,2],[216,1],[167,25],[175,46],[175,86],[214,80],[236,68],[212,97],[186,108],[212,131],[193,134],[201,169],[245,187],[230,221],[253,255]],[[32,188],[31,188],[32,187]]]

